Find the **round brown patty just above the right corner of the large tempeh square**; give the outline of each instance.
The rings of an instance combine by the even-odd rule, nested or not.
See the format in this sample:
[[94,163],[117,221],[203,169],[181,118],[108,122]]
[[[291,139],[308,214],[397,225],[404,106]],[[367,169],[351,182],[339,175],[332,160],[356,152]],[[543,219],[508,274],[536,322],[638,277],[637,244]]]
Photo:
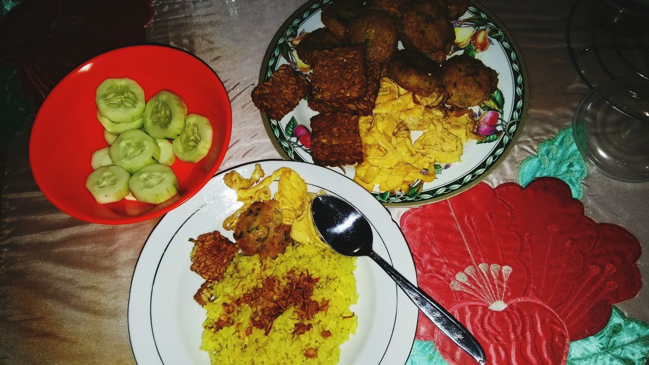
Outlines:
[[349,44],[361,44],[365,48],[365,60],[386,62],[397,51],[398,42],[395,21],[383,12],[369,12],[350,21],[345,33]]

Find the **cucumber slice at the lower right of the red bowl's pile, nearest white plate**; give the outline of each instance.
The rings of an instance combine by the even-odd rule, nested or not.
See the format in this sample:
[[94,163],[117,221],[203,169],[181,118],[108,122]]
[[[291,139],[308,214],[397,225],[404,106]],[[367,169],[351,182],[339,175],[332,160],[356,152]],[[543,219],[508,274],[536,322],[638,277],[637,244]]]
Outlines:
[[160,204],[178,193],[178,178],[169,166],[151,164],[130,177],[129,189],[138,201]]

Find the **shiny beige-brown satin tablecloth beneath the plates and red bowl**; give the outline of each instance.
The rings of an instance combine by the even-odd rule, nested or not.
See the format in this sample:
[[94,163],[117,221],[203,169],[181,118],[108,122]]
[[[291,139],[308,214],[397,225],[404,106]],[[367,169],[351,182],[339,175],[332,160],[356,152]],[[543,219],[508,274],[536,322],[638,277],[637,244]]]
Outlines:
[[[171,44],[205,60],[232,103],[232,139],[220,170],[280,158],[250,93],[276,30],[303,0],[154,1],[150,42]],[[523,158],[570,125],[588,88],[570,61],[565,26],[572,1],[482,1],[519,44],[530,104],[524,130],[485,181],[516,181]],[[27,147],[31,123],[9,144],[0,236],[0,364],[134,364],[127,326],[130,280],[158,220],[98,225],[71,218],[38,190]],[[649,183],[613,181],[592,168],[583,181],[587,216],[617,223],[644,248],[649,277]],[[405,208],[392,208],[395,221]],[[619,308],[649,321],[649,288]]]

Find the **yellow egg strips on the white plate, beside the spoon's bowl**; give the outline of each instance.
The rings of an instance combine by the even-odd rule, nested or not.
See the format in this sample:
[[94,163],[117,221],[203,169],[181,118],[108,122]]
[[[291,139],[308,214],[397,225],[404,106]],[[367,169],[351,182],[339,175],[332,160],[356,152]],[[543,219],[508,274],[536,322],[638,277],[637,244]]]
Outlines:
[[317,194],[306,191],[306,183],[297,172],[289,168],[279,168],[271,175],[265,177],[260,164],[254,165],[254,171],[249,179],[242,177],[237,171],[225,174],[225,184],[237,192],[237,200],[243,202],[243,207],[223,221],[223,228],[234,230],[239,220],[239,215],[255,201],[269,201],[273,199],[269,186],[278,180],[277,192],[274,199],[282,212],[282,223],[291,225],[291,238],[302,244],[317,244],[328,247],[320,238],[315,229],[310,213],[311,201]]

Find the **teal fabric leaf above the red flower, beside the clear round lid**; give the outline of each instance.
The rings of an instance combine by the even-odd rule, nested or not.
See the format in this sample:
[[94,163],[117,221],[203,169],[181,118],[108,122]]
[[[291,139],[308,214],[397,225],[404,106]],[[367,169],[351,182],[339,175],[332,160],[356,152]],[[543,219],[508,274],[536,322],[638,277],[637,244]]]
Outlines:
[[527,157],[520,163],[518,180],[520,186],[525,187],[537,177],[556,177],[570,186],[572,197],[582,199],[582,180],[587,171],[574,143],[572,127],[567,127],[554,138],[541,142],[537,155]]

